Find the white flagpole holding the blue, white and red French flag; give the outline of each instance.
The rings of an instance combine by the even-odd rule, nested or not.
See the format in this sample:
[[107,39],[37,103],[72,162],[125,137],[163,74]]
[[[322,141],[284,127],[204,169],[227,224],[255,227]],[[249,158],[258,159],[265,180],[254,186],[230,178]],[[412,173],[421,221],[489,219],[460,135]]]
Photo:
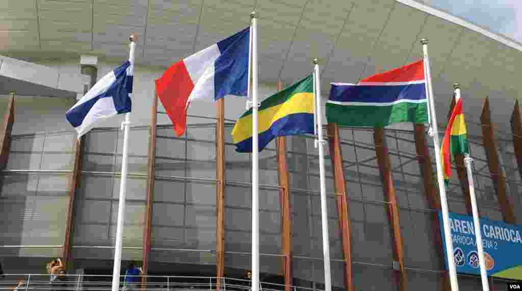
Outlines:
[[257,13],[250,14],[252,28],[252,291],[259,291],[259,146],[257,110]]

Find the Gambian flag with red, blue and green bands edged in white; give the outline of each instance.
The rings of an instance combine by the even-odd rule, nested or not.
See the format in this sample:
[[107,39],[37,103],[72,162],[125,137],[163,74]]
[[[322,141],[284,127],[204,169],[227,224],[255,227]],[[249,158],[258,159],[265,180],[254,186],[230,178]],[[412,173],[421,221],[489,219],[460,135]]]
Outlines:
[[421,60],[367,77],[358,84],[332,83],[326,119],[346,126],[426,123],[427,104]]

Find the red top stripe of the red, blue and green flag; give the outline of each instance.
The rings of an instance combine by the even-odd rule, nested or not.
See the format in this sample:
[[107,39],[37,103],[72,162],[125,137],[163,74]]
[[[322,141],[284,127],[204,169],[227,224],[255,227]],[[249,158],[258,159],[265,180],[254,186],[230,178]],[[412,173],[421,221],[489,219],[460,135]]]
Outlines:
[[373,75],[362,79],[362,82],[411,82],[424,80],[424,61],[420,60],[406,66],[392,69],[391,71]]

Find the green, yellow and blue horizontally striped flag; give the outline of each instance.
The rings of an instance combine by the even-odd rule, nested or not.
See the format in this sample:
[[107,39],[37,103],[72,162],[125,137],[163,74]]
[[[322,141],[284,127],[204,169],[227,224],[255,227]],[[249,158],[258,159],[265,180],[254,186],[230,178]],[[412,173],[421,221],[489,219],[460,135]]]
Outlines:
[[[258,115],[259,151],[277,136],[314,133],[313,75],[261,102]],[[252,153],[252,108],[232,130],[236,152]]]

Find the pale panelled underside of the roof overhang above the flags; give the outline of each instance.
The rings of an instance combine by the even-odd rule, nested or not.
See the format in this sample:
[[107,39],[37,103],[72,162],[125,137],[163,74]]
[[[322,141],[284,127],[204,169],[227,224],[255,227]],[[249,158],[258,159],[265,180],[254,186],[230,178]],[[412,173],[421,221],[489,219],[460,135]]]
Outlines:
[[357,83],[421,59],[420,39],[428,38],[440,123],[456,82],[469,120],[479,120],[489,96],[493,121],[508,131],[514,101],[522,96],[520,43],[412,0],[35,3],[13,1],[0,10],[7,19],[0,51],[58,59],[86,53],[121,62],[136,33],[136,63],[167,67],[247,27],[256,10],[260,82],[290,85],[312,72],[317,57],[325,98],[331,82]]

